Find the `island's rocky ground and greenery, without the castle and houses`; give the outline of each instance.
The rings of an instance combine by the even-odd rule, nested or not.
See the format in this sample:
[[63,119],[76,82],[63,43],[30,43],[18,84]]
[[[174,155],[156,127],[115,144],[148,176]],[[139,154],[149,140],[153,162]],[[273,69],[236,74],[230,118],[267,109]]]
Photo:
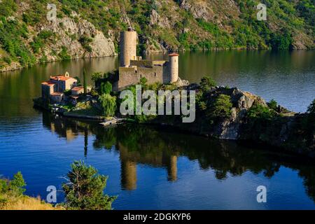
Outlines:
[[[116,75],[116,71],[93,73],[94,86],[91,91],[80,94],[74,104],[69,98],[57,105],[47,102],[43,104],[41,98],[34,100],[34,103],[62,116],[105,121],[123,118],[133,123],[167,125],[215,139],[254,141],[314,157],[315,100],[307,113],[295,113],[283,108],[274,100],[265,102],[261,97],[239,90],[237,87],[220,87],[209,76],[204,76],[199,84],[187,85],[179,83],[147,85],[146,78],[141,78],[138,85],[141,85],[142,91],[153,90],[158,93],[159,90],[179,92],[194,90],[196,119],[193,123],[183,123],[183,115],[148,116],[134,113],[123,116],[120,113],[120,104],[124,99],[120,99],[120,92],[113,91],[111,84]],[[136,96],[136,85],[130,85],[127,90]],[[142,100],[144,103],[145,99]],[[174,111],[174,102],[172,106]]]

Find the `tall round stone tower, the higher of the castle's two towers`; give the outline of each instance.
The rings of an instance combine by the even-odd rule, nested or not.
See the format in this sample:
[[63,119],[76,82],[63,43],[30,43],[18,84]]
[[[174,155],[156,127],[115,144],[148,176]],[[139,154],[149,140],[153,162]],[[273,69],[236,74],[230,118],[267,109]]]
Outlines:
[[120,33],[120,66],[129,67],[137,56],[137,32],[131,27]]

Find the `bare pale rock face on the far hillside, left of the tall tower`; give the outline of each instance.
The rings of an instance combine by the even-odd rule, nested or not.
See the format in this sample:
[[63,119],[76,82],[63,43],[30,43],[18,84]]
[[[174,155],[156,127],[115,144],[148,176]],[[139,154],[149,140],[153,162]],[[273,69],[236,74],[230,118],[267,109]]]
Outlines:
[[[90,58],[90,57],[109,57],[117,55],[115,45],[111,38],[104,36],[92,25],[73,15],[73,18],[57,18],[54,21],[43,21],[36,27],[29,27],[29,38],[27,45],[41,33],[41,31],[51,31],[54,34],[53,39],[46,39],[45,46],[34,54],[36,62],[41,62],[45,58],[45,62],[54,62],[63,59],[60,57],[62,50],[70,59]],[[80,40],[85,38],[88,43],[81,43]],[[11,62],[7,66],[3,66],[1,71],[12,71],[22,69],[19,62]]]

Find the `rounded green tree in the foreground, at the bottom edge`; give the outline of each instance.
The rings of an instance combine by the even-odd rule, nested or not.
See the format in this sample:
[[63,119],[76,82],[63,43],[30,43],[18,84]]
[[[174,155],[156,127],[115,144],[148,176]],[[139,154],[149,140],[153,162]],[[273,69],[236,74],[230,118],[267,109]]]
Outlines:
[[108,176],[97,173],[97,169],[82,161],[73,162],[71,171],[67,174],[69,183],[62,185],[66,195],[66,209],[111,210],[116,197],[104,195]]

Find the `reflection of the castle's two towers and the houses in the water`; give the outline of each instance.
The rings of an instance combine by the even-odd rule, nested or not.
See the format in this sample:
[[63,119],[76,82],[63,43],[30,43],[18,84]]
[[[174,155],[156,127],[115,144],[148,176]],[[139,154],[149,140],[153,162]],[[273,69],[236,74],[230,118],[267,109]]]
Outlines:
[[[124,135],[120,135],[121,138],[117,138],[116,134],[118,133],[115,128],[104,129],[97,123],[85,123],[69,118],[64,119],[48,113],[43,113],[43,125],[52,132],[59,134],[60,137],[64,137],[66,141],[73,141],[78,135],[83,135],[85,157],[88,153],[88,138],[91,135],[96,137],[93,144],[94,150],[102,148],[110,150],[114,148],[118,151],[120,154],[121,186],[123,189],[135,190],[137,188],[137,165],[139,164],[164,167],[167,169],[167,179],[169,181],[177,180],[177,157],[179,153],[176,153],[176,151],[160,151],[157,145],[157,148],[151,148],[144,154],[141,150],[134,150],[137,147],[137,141],[134,142],[136,145],[131,145],[132,142],[124,141]],[[119,141],[119,139],[122,140]],[[154,147],[153,144],[150,147],[152,146]]]

